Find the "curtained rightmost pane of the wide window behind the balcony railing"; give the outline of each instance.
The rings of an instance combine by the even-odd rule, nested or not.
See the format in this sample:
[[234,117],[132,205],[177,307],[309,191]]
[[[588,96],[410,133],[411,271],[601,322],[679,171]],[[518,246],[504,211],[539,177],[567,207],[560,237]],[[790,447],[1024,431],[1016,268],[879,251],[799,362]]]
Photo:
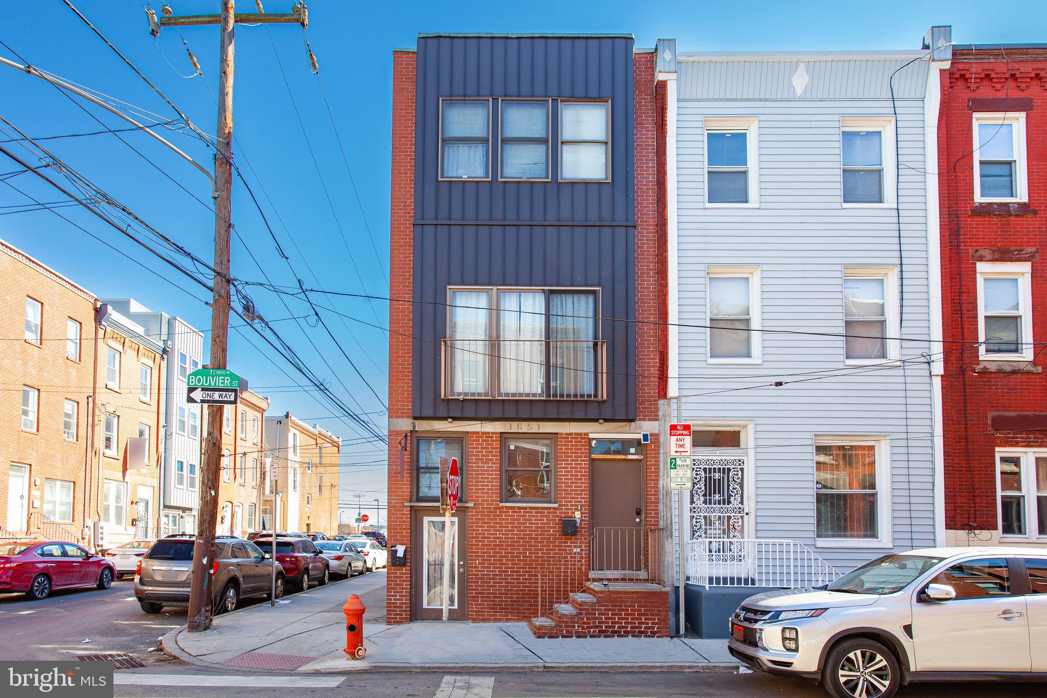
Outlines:
[[596,294],[549,296],[550,391],[584,397],[596,391]]

